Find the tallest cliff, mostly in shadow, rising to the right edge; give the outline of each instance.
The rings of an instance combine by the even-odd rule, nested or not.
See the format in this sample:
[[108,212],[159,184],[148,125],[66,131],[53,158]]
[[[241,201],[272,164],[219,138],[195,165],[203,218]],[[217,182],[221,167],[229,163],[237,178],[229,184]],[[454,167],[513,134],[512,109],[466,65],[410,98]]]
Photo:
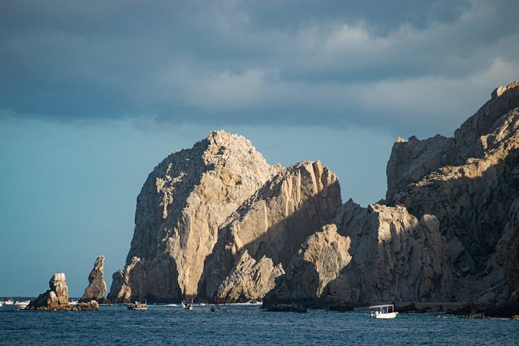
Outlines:
[[492,96],[455,131],[447,165],[434,169],[426,154],[406,161],[398,155],[402,150],[394,148],[392,158],[399,157],[402,172],[417,161],[426,161],[419,164],[430,171],[406,186],[388,174],[397,179],[388,180],[388,186],[399,188],[388,190],[387,203],[439,219],[454,271],[451,298],[456,300],[500,299],[513,292],[517,273],[509,268],[517,253],[513,215],[519,196],[519,83],[500,87]]

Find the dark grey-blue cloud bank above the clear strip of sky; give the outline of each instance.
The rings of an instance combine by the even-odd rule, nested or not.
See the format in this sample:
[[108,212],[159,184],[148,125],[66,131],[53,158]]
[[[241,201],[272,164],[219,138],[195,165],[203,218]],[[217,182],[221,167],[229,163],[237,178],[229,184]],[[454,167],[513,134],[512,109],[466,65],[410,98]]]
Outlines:
[[3,1],[0,109],[444,131],[517,78],[518,13],[504,0]]

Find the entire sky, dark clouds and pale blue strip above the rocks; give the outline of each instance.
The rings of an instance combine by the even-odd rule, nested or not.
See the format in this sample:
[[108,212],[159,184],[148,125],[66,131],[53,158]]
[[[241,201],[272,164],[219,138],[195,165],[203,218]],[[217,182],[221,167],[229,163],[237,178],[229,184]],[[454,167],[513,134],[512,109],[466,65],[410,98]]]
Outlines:
[[519,78],[518,18],[513,0],[0,1],[0,295],[55,271],[81,295],[100,254],[111,282],[147,174],[211,129],[378,201],[396,136],[452,136]]

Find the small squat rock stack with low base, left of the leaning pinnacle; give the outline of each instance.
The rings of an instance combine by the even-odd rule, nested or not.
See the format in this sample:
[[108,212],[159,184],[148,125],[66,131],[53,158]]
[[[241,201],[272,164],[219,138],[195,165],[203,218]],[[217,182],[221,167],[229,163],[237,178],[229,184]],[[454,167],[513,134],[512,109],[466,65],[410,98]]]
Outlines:
[[31,300],[26,310],[98,310],[98,302],[92,301],[78,304],[78,307],[71,306],[69,302],[69,286],[66,285],[64,273],[56,273],[48,282],[46,292],[38,295],[38,298]]

